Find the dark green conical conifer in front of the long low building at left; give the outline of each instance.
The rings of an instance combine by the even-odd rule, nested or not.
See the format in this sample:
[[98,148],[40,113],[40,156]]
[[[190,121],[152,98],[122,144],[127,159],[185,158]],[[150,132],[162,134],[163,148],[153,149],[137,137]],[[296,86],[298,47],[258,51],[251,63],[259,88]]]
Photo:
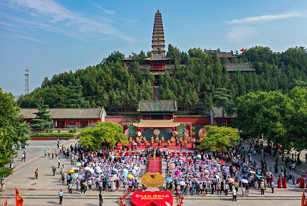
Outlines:
[[33,118],[32,128],[45,129],[50,127],[52,123],[52,118],[51,115],[48,115],[48,113],[50,113],[50,111],[47,111],[49,108],[48,105],[43,104],[43,98],[39,98],[39,101],[36,106],[38,108],[38,112],[33,113],[36,114],[36,118]]

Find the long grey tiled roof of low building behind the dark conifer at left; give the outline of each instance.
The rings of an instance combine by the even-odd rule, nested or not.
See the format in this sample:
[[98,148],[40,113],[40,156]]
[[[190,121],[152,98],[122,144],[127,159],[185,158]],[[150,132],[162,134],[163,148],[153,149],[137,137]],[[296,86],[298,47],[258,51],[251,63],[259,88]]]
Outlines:
[[[20,114],[26,118],[36,118],[37,108],[21,108]],[[83,119],[83,118],[101,118],[103,108],[49,108],[51,118],[53,119]]]

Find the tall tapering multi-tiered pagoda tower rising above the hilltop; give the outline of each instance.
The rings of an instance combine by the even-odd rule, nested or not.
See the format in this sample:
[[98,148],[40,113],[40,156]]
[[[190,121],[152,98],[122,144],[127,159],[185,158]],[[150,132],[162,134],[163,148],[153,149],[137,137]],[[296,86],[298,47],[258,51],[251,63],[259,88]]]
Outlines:
[[162,51],[162,54],[165,54],[165,36],[162,24],[162,16],[157,9],[155,14],[155,24],[152,32],[152,53],[158,54],[159,50]]

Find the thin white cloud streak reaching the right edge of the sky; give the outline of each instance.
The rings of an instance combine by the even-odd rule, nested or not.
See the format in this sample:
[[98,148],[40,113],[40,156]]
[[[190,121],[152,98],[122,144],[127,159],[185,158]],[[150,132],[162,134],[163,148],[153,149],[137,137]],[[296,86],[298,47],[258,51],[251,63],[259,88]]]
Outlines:
[[264,21],[274,21],[279,19],[292,19],[298,18],[302,16],[307,16],[306,12],[301,11],[293,11],[284,14],[276,14],[276,15],[264,15],[264,16],[254,16],[254,17],[246,17],[244,19],[234,19],[232,21],[227,21],[227,24],[254,24],[261,23]]

